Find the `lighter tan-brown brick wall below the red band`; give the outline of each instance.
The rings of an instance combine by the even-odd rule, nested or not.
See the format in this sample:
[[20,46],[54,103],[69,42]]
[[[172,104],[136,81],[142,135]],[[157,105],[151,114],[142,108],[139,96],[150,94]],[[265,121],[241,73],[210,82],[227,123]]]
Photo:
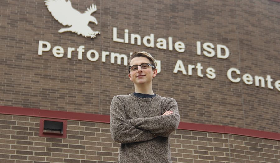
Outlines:
[[[117,162],[119,143],[112,140],[109,124],[68,120],[67,138],[39,137],[40,118],[0,116],[1,163]],[[174,163],[279,163],[280,141],[176,130],[170,136]]]

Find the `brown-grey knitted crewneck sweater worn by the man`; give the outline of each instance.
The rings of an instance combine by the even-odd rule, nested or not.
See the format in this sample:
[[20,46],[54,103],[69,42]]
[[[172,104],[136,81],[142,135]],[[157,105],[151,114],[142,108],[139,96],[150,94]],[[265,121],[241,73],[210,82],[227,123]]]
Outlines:
[[[174,113],[162,115],[169,110]],[[172,162],[169,135],[179,121],[173,98],[139,98],[133,93],[115,96],[110,108],[110,129],[113,140],[121,143],[118,162]]]

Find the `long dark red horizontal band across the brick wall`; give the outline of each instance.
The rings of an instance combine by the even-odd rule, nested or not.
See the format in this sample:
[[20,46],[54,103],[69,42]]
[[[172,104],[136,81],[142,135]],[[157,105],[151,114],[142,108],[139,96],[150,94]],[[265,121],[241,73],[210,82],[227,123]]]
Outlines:
[[[67,111],[52,111],[52,110],[31,109],[31,108],[12,107],[12,106],[0,106],[0,114],[23,115],[23,116],[32,116],[32,117],[56,118],[56,119],[79,120],[79,121],[101,122],[101,123],[110,122],[109,115],[75,113],[75,112],[67,112]],[[250,136],[256,138],[280,140],[280,133],[259,131],[253,129],[243,129],[243,128],[230,127],[230,126],[180,122],[178,129],[224,133],[224,134],[235,134],[235,135],[243,135],[243,136]]]

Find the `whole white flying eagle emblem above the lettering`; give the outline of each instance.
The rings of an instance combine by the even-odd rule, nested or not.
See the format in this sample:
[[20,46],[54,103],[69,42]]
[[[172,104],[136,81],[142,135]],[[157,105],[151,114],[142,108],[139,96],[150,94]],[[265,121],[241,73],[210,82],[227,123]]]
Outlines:
[[82,34],[84,37],[95,38],[99,31],[93,31],[89,26],[89,22],[97,24],[97,20],[94,16],[91,16],[93,12],[97,10],[96,5],[92,4],[84,13],[74,9],[70,0],[45,0],[49,12],[54,18],[62,25],[68,25],[68,28],[59,29],[59,33],[62,32],[74,32],[78,35]]

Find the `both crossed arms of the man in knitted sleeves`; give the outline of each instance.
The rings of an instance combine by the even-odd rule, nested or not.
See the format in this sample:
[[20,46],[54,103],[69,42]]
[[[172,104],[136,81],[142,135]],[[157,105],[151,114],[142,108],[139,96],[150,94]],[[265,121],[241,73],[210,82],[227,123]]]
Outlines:
[[133,143],[152,140],[156,136],[168,137],[179,125],[177,102],[165,99],[164,114],[148,118],[126,119],[124,102],[114,97],[110,108],[112,138],[118,143]]

